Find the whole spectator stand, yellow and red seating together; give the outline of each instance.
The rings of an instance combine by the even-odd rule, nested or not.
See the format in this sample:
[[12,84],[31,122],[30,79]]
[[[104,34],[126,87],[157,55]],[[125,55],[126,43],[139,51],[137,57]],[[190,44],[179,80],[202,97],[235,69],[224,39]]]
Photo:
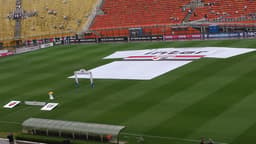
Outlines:
[[84,38],[93,39],[198,35],[212,24],[255,27],[256,22],[255,0],[22,0],[20,6],[17,1],[0,0],[3,46],[8,40],[10,45],[67,36],[77,40],[76,34],[85,32]]

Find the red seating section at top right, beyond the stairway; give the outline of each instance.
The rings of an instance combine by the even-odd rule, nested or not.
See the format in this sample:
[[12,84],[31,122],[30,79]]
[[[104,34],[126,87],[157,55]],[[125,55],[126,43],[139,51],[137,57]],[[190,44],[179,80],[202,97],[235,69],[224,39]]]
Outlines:
[[204,7],[196,8],[190,21],[205,19],[211,22],[251,22],[256,20],[255,0],[203,0]]

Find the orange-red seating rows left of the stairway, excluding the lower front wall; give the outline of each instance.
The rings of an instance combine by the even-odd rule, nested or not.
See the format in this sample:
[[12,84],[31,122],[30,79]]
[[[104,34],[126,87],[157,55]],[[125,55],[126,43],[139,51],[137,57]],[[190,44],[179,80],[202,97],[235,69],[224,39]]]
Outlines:
[[190,0],[106,0],[102,7],[104,14],[96,17],[91,28],[180,23],[186,15],[181,7],[189,2]]

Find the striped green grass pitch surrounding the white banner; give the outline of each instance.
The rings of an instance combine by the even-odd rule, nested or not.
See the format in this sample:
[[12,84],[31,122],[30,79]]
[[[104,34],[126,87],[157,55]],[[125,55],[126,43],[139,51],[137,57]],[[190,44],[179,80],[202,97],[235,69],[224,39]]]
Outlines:
[[[74,70],[109,63],[117,50],[227,46],[256,48],[256,40],[142,42],[57,46],[0,58],[0,132],[20,132],[29,117],[125,125],[122,141],[136,144],[256,142],[256,53],[229,59],[200,59],[150,81],[88,80],[79,88],[67,79]],[[60,105],[2,106],[10,100],[48,102],[53,89]]]

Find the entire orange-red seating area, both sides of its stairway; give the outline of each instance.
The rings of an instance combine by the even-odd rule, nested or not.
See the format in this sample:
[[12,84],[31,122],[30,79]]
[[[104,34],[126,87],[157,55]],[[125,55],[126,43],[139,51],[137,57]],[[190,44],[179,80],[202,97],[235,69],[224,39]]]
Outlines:
[[254,0],[105,0],[90,30],[100,37],[128,36],[129,28],[143,35],[200,33],[192,27],[171,28],[192,21],[252,23]]

